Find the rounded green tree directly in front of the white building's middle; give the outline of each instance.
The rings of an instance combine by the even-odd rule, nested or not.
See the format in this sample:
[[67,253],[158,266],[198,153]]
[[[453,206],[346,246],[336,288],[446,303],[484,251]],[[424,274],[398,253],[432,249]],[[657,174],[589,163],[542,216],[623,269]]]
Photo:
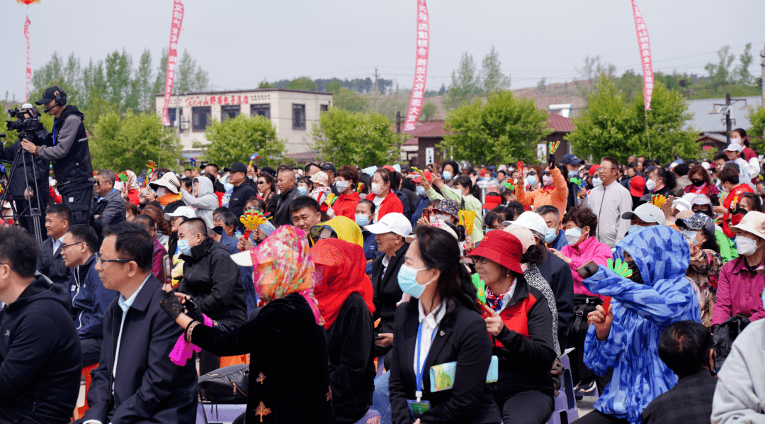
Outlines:
[[278,138],[271,119],[264,116],[241,114],[223,122],[213,119],[205,137],[210,143],[194,142],[194,147],[202,148],[203,158],[217,164],[248,163],[249,156],[257,153],[258,165],[275,166],[285,154],[285,140]]

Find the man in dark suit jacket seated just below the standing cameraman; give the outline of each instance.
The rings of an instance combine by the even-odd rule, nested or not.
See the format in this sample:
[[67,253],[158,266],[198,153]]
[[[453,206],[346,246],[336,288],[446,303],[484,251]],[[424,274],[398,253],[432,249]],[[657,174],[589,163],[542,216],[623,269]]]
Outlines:
[[63,265],[61,246],[71,220],[72,212],[63,204],[54,204],[47,209],[45,230],[48,238],[40,244],[40,256],[37,256],[37,271],[61,288],[66,288],[69,281],[69,268]]

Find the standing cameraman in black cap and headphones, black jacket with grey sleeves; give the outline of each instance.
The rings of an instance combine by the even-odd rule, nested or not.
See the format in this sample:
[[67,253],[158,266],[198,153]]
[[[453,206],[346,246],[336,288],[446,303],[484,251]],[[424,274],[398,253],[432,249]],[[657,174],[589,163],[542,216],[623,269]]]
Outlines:
[[45,89],[38,105],[45,106],[45,113],[55,116],[50,143],[35,145],[24,139],[21,146],[38,158],[53,162],[58,191],[64,206],[72,211],[72,225],[88,223],[90,201],[93,197],[93,167],[90,165],[90,148],[83,117],[77,106],[66,106],[67,93],[58,86]]

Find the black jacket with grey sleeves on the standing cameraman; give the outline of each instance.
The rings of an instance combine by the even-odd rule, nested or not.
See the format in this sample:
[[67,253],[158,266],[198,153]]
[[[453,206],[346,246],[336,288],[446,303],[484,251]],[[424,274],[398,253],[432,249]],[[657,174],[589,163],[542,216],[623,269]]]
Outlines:
[[62,195],[93,185],[93,166],[90,165],[90,147],[83,124],[84,117],[77,106],[64,107],[54,122],[56,138],[52,145],[37,149],[37,156],[53,161],[53,173],[56,176],[58,191]]

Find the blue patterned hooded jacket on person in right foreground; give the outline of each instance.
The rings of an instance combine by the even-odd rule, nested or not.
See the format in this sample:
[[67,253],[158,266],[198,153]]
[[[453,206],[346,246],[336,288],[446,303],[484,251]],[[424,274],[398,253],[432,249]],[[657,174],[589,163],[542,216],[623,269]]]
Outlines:
[[601,266],[584,286],[613,298],[614,324],[608,338],[598,341],[591,326],[584,342],[584,364],[605,375],[610,383],[594,408],[611,416],[640,422],[648,404],[677,383],[672,370],[659,359],[659,334],[675,321],[701,322],[698,300],[685,278],[690,250],[679,231],[657,225],[628,234],[616,246],[614,259],[629,253],[640,269],[643,284]]

